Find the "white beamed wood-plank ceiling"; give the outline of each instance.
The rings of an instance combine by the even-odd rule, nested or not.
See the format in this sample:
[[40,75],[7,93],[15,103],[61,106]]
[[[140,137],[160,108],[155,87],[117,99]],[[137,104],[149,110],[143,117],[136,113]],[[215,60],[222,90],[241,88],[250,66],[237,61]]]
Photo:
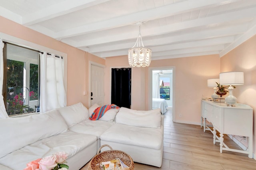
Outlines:
[[99,57],[141,35],[152,60],[219,54],[256,34],[256,0],[0,0],[0,16]]

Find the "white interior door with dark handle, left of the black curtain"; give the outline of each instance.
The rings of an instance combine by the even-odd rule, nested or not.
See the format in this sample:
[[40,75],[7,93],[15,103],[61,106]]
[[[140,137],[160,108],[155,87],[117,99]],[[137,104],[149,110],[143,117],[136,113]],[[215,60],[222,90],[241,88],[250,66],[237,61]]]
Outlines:
[[97,103],[102,106],[104,103],[104,68],[91,65],[91,106]]

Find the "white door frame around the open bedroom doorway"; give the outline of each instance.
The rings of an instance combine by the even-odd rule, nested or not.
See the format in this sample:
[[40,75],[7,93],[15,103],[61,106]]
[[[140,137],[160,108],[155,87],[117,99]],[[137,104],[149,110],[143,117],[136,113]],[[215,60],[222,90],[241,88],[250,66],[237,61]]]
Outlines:
[[152,71],[172,69],[172,121],[175,122],[175,66],[148,67],[148,110],[152,110]]

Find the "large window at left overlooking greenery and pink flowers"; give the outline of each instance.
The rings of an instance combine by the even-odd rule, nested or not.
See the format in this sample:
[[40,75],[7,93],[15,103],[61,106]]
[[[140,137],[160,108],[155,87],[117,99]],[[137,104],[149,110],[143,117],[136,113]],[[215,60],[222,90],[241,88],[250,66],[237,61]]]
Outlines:
[[3,96],[9,116],[39,111],[39,54],[5,44]]

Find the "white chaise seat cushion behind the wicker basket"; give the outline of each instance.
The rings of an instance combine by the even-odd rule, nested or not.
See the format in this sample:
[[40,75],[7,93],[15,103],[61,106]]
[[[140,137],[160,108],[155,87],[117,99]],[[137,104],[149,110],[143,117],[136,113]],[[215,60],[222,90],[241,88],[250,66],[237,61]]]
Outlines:
[[161,128],[146,128],[116,123],[100,135],[100,140],[160,149],[163,144],[163,136],[163,126]]

